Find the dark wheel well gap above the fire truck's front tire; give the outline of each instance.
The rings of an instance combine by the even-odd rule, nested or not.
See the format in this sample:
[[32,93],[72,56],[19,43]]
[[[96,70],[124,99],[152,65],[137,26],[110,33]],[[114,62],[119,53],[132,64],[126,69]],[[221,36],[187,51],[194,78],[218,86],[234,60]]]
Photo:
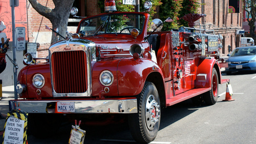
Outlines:
[[146,81],[152,82],[160,97],[161,107],[166,107],[164,81],[160,73],[153,72],[147,76]]

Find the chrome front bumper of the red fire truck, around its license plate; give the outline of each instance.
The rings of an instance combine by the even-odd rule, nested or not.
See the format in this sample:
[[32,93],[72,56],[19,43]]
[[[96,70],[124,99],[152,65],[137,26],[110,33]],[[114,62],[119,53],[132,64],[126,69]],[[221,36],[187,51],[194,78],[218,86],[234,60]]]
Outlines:
[[[59,112],[57,102],[71,102],[74,106],[73,112]],[[51,106],[49,106],[51,105]],[[10,100],[9,109],[20,109],[28,113],[62,113],[62,114],[132,114],[137,113],[137,99],[116,100]]]

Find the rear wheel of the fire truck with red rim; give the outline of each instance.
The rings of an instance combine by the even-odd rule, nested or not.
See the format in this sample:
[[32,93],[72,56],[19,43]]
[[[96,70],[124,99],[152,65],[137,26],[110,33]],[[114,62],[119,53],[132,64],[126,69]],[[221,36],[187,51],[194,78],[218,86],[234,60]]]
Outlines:
[[218,73],[215,68],[213,68],[213,72],[211,73],[211,90],[207,91],[203,94],[204,101],[207,105],[214,105],[218,100],[219,93],[219,79]]

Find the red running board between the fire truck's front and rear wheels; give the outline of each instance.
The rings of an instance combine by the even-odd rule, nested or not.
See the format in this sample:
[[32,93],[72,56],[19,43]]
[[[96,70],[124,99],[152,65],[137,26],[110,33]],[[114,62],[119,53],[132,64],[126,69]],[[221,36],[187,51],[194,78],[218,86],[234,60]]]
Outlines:
[[199,88],[199,89],[191,89],[185,92],[182,92],[181,94],[178,94],[174,97],[171,97],[166,100],[166,106],[171,106],[174,104],[177,104],[181,101],[190,99],[191,97],[203,94],[204,92],[207,92],[211,90],[211,88]]

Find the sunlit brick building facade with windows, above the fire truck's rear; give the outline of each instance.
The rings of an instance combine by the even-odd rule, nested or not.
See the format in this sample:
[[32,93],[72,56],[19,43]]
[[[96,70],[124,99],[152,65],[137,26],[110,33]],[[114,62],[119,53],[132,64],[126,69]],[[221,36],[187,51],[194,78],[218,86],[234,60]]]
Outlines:
[[[228,13],[228,0],[201,0],[200,13],[206,14],[206,17],[200,19],[201,28],[213,29],[215,33],[223,35],[223,49],[220,54],[227,56],[228,46],[231,50],[240,46],[240,32],[242,29],[242,1],[239,1],[239,13]],[[197,27],[197,28],[198,28]]]

